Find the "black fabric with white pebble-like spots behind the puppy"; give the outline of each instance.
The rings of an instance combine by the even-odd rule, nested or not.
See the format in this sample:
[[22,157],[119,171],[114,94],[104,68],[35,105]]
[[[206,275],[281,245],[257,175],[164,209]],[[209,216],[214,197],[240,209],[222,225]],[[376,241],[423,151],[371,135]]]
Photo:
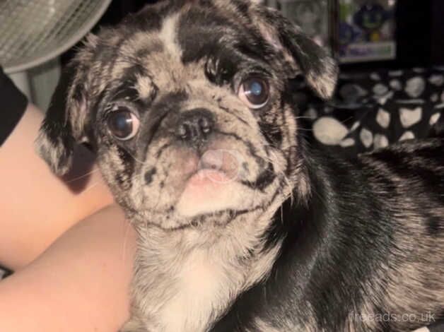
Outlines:
[[355,154],[426,137],[443,113],[444,68],[436,67],[341,75],[331,105],[308,102],[303,118],[317,141]]

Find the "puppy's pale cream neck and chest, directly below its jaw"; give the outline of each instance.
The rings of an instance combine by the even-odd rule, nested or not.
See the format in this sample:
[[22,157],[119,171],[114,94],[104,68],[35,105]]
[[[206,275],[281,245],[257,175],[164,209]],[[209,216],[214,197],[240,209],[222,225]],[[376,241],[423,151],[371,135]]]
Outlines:
[[134,284],[144,292],[134,290],[134,296],[145,294],[136,303],[156,322],[150,331],[205,331],[240,292],[265,278],[280,243],[266,247],[264,234],[284,199],[276,196],[266,210],[243,213],[223,226],[162,230],[135,225]]

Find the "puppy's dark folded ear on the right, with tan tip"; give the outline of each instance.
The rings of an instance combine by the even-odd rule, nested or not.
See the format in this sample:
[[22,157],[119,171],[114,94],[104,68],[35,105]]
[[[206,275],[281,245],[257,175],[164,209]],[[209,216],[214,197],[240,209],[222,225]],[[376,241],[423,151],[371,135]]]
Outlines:
[[265,39],[288,62],[288,75],[297,73],[305,76],[305,81],[323,99],[332,97],[337,83],[338,66],[329,57],[327,50],[320,47],[300,28],[284,18],[278,11],[265,6],[255,6],[259,31]]

